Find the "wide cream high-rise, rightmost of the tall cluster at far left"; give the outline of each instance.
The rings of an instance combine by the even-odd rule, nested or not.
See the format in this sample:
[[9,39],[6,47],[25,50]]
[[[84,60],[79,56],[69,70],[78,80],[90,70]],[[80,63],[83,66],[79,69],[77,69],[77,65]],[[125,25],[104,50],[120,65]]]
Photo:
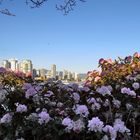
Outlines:
[[33,70],[33,64],[31,60],[23,60],[19,64],[19,70],[22,71],[23,73],[31,73]]

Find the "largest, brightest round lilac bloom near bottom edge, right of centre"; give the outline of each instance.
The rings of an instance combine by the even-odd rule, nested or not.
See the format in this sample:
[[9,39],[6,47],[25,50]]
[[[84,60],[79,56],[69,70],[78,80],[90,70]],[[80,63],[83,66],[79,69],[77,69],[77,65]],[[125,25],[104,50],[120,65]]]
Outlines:
[[98,118],[94,117],[92,120],[88,121],[88,130],[94,132],[102,132],[103,130],[103,122]]

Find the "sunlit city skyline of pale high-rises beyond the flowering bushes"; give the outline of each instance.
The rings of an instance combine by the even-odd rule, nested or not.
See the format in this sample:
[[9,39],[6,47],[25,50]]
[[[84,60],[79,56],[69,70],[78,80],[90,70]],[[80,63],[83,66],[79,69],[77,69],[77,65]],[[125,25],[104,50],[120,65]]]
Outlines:
[[26,75],[31,75],[36,80],[55,78],[57,80],[84,81],[87,76],[86,73],[76,73],[66,69],[57,70],[57,66],[55,64],[52,64],[50,68],[36,69],[32,63],[32,60],[29,59],[4,59],[2,60],[0,66],[15,72],[20,71]]

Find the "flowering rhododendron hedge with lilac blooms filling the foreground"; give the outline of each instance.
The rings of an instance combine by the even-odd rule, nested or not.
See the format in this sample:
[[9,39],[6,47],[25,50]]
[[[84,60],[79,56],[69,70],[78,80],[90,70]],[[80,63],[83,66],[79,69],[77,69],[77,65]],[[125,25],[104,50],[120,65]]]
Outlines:
[[140,55],[99,64],[82,87],[0,68],[0,140],[139,140]]

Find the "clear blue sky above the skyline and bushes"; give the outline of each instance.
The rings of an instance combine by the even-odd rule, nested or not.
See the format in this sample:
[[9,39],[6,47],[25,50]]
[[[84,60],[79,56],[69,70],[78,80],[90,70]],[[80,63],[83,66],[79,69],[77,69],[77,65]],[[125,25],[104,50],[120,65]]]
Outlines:
[[98,59],[140,52],[140,0],[87,0],[64,16],[58,0],[30,9],[6,2],[16,17],[0,14],[0,59],[31,59],[34,67],[87,72]]

